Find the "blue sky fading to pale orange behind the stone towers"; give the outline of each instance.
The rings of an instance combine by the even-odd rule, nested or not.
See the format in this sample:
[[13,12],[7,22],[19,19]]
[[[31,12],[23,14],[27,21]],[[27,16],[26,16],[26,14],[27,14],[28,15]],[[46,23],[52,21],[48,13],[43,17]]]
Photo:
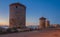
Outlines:
[[27,25],[38,25],[40,17],[46,17],[51,24],[60,24],[59,0],[0,0],[0,24],[9,24],[9,4],[19,2],[26,8]]

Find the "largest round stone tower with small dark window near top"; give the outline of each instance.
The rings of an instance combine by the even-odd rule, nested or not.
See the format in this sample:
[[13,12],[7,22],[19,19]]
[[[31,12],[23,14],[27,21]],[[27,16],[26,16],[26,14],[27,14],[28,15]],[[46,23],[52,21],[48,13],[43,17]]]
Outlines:
[[25,27],[26,7],[20,3],[10,4],[10,27]]

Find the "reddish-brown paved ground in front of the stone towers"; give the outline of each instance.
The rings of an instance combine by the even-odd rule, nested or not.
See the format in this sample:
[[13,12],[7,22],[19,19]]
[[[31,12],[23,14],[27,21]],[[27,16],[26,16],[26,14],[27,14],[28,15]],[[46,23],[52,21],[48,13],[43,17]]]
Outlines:
[[60,30],[43,30],[0,35],[0,37],[60,37]]

